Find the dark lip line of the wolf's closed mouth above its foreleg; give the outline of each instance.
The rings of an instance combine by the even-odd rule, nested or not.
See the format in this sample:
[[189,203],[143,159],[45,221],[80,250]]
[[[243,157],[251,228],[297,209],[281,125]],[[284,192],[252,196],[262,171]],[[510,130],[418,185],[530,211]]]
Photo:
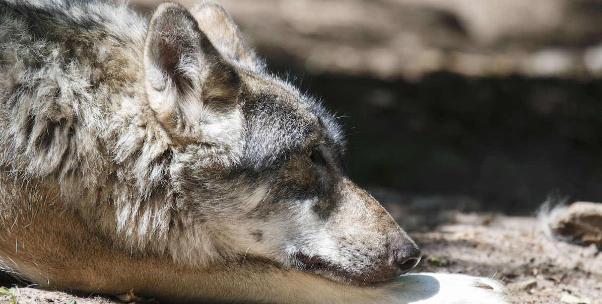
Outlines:
[[356,285],[368,285],[377,284],[380,282],[388,281],[394,278],[399,273],[389,271],[386,268],[373,273],[358,274],[344,270],[343,268],[332,264],[331,262],[325,261],[323,258],[318,256],[308,256],[303,253],[297,253],[294,256],[297,261],[302,262],[300,269],[315,273],[320,276],[324,276],[327,279],[333,281],[344,282],[347,284]]

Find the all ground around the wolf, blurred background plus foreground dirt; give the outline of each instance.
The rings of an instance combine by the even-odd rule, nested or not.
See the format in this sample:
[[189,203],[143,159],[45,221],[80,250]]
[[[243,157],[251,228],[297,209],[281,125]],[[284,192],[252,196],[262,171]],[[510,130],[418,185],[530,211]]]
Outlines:
[[[497,278],[517,303],[602,303],[602,254],[535,217],[550,192],[602,197],[600,3],[221,2],[272,70],[352,117],[350,173],[388,189],[370,191],[421,247],[414,271]],[[18,303],[121,303],[0,278],[13,284]]]

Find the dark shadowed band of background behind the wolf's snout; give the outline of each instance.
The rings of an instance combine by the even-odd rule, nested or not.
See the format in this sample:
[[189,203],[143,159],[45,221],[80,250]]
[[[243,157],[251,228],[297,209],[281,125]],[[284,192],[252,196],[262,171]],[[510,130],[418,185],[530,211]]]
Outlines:
[[602,197],[602,85],[557,78],[308,79],[345,113],[347,166],[366,187],[468,196],[530,212],[548,195]]

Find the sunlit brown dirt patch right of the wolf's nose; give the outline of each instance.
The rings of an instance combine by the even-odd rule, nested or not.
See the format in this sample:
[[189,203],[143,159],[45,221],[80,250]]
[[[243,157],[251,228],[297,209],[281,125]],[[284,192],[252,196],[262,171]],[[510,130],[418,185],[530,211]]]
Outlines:
[[535,217],[457,213],[453,218],[457,222],[412,233],[423,250],[416,271],[501,279],[516,303],[579,303],[568,302],[567,294],[602,303],[602,255],[595,247],[550,240]]

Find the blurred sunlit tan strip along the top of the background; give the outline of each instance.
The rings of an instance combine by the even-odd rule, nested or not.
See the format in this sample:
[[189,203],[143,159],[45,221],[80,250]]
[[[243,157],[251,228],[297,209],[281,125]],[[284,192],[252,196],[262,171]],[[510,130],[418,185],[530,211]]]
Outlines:
[[416,80],[439,70],[467,76],[602,73],[602,2],[596,0],[220,2],[268,59],[311,74]]

